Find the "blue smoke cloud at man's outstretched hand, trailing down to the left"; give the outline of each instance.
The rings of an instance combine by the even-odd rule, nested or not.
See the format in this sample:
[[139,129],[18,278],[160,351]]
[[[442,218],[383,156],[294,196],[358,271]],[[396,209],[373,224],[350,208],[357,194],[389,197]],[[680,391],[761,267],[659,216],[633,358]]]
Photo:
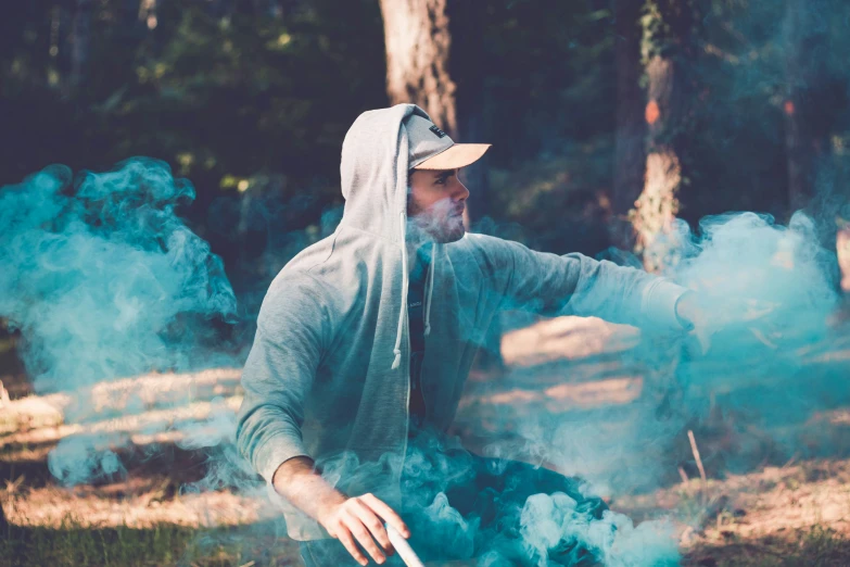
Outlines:
[[668,244],[677,261],[665,275],[698,293],[708,350],[694,338],[645,335],[619,357],[624,374],[643,376],[642,396],[523,419],[532,451],[622,493],[677,478],[676,459],[688,461],[689,445],[671,449],[686,426],[735,428],[732,444],[718,449],[718,472],[847,449],[789,427],[850,402],[846,368],[829,357],[848,335],[836,318],[836,259],[819,243],[814,222],[802,213],[787,226],[770,215],[719,215],[703,218],[699,234],[680,222]]

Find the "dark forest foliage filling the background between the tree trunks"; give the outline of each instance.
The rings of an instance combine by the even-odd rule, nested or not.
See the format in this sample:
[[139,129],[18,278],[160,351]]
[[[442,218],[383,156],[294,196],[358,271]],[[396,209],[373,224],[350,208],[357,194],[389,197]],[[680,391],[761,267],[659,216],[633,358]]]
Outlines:
[[[198,200],[182,214],[229,272],[265,262],[254,272],[268,277],[291,250],[325,234],[331,217],[322,222],[322,212],[342,203],[342,138],[359,112],[384,106],[386,97],[378,2],[288,0],[277,15],[259,11],[262,3],[158,0],[150,29],[137,2],[88,2],[88,60],[77,85],[71,80],[76,3],[18,2],[0,18],[0,185],[55,162],[105,169],[131,155],[165,160],[195,185]],[[682,51],[670,30],[683,5],[699,8],[699,17],[688,24],[695,135],[682,215],[692,222],[728,210],[781,215],[784,10],[771,0],[652,0],[644,22],[647,54]],[[850,5],[817,5],[828,11],[812,21],[826,26],[830,48],[822,59],[835,79],[830,116],[838,116],[836,167],[825,182],[840,192],[850,171],[842,55]],[[545,248],[598,252],[605,238],[595,225],[605,219],[613,178],[612,2],[480,7],[481,106],[497,192],[490,211],[498,223],[525,226]],[[551,189],[541,192],[532,179]]]

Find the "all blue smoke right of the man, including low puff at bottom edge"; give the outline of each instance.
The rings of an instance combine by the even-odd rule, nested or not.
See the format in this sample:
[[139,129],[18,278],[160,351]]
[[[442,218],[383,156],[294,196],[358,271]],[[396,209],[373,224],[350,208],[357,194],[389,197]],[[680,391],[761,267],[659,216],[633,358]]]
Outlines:
[[[645,332],[636,346],[609,355],[616,356],[617,376],[643,378],[633,402],[559,412],[544,396],[540,405],[520,401],[494,408],[486,418],[516,424],[524,443],[487,449],[583,476],[594,491],[612,495],[614,507],[620,495],[678,482],[678,466],[697,474],[683,439],[688,429],[696,431],[714,478],[781,465],[795,454],[847,453],[850,442],[840,441],[846,427],[830,430],[817,420],[850,403],[847,364],[838,352],[850,333],[836,317],[836,257],[817,235],[803,213],[787,226],[766,214],[711,216],[698,232],[678,222],[665,242],[671,263],[664,275],[698,293],[708,349],[694,337]],[[607,360],[558,368],[569,382],[573,364]],[[598,367],[598,378],[606,378],[604,365]],[[502,387],[528,388],[538,371],[550,376],[554,369],[509,375]],[[581,374],[586,380],[587,371]],[[607,512],[587,521],[574,505],[564,494],[530,497],[522,512],[525,544],[545,557],[560,539],[575,538],[598,550],[606,565],[677,564],[675,530],[667,520],[635,527]]]

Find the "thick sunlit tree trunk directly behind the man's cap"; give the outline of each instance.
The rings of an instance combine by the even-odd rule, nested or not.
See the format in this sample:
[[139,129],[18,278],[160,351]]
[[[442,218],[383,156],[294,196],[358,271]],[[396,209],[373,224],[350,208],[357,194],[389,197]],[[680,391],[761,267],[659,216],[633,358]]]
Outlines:
[[457,131],[447,0],[381,0],[386,43],[386,93],[413,102],[448,133]]

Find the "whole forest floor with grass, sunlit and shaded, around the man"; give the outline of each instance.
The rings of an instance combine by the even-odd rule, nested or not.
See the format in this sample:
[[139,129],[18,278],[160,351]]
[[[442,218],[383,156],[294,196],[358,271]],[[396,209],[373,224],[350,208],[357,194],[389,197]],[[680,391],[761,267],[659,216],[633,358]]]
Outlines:
[[[627,416],[644,399],[643,377],[619,363],[634,340],[627,328],[569,317],[507,333],[503,354],[513,378],[471,376],[456,432],[475,450],[490,442],[489,432],[515,430],[518,414],[620,407]],[[551,373],[523,382],[530,367]],[[86,403],[35,395],[7,379],[0,388],[0,566],[300,565],[297,545],[280,533],[263,494],[193,489],[208,470],[210,452],[185,442],[179,426],[211,426],[226,414],[220,410],[237,408],[239,376],[236,368],[150,374],[97,385]],[[850,412],[812,419],[838,438]],[[725,442],[721,440],[697,433],[706,461],[712,443]],[[83,438],[112,448],[124,470],[94,484],[61,487],[48,455],[60,441]],[[702,478],[695,458],[682,462],[688,458],[659,486],[606,500],[636,522],[670,518],[683,565],[850,565],[850,459],[791,457],[741,474],[707,464]]]

